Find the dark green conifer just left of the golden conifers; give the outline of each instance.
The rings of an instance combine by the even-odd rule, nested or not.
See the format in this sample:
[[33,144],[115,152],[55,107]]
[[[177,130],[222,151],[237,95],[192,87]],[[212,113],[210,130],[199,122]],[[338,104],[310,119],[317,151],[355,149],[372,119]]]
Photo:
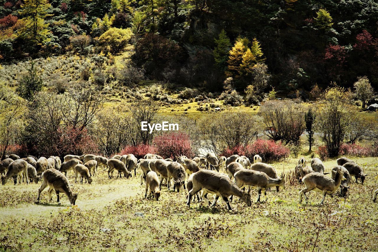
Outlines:
[[215,48],[213,51],[215,65],[222,72],[227,68],[227,59],[230,48],[230,39],[227,37],[225,30],[222,30],[219,34],[219,38],[215,39]]

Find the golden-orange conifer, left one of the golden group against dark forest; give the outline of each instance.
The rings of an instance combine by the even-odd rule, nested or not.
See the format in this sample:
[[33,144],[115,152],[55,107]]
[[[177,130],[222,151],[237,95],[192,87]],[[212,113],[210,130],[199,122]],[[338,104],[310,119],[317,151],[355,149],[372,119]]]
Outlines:
[[235,41],[234,47],[229,52],[227,60],[227,70],[225,72],[227,77],[239,77],[240,65],[243,63],[243,55],[246,51],[245,45],[242,39]]

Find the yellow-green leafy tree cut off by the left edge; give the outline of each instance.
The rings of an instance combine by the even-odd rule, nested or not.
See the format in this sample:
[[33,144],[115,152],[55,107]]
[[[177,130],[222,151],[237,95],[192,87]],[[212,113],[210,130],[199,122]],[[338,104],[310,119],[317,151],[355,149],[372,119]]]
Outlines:
[[10,88],[0,84],[0,147],[1,157],[5,157],[9,144],[19,139],[23,115],[27,111],[26,102]]

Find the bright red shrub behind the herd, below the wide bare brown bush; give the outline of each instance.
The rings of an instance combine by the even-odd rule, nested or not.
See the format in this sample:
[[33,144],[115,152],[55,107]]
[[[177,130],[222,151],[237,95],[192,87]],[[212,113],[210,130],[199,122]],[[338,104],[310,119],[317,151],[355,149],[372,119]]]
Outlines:
[[279,162],[289,157],[290,150],[281,142],[273,140],[257,139],[252,145],[247,146],[247,157],[252,160],[258,154],[264,162]]

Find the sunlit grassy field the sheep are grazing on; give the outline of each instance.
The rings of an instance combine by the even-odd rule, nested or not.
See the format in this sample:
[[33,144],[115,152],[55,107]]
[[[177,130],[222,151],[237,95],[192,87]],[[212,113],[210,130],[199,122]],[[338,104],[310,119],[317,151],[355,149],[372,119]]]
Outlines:
[[[186,192],[163,191],[159,201],[144,199],[144,185],[136,177],[107,178],[92,184],[74,183],[77,206],[61,196],[61,206],[34,204],[39,184],[0,187],[0,250],[31,251],[350,251],[378,250],[378,203],[371,200],[378,187],[376,158],[358,158],[369,174],[365,184],[352,183],[346,199],[308,193],[310,203],[298,204],[303,185],[290,182],[297,160],[276,163],[287,174],[286,188],[268,192],[266,203],[245,206],[239,199],[226,210],[222,200],[214,209],[204,203],[186,206]],[[326,172],[335,160],[325,162]],[[182,188],[181,188],[182,189]],[[257,193],[252,191],[256,201]],[[211,196],[209,197],[210,200]],[[56,200],[55,195],[53,200]],[[143,217],[136,215],[142,213]]]

